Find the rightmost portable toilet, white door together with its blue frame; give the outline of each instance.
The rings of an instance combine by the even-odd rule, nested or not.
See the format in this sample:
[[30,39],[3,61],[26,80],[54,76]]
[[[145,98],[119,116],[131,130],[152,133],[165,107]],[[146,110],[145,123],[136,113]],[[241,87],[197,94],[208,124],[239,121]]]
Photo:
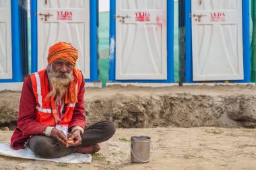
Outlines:
[[250,82],[249,1],[179,1],[180,81]]

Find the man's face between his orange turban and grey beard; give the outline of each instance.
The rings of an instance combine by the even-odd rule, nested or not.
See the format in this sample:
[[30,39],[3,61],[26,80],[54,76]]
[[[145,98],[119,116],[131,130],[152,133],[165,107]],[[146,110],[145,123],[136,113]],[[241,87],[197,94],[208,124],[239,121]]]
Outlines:
[[55,73],[71,73],[71,71],[73,70],[73,65],[71,65],[70,62],[67,62],[65,60],[61,60],[61,58],[55,60],[55,62],[53,62],[53,71],[55,71]]

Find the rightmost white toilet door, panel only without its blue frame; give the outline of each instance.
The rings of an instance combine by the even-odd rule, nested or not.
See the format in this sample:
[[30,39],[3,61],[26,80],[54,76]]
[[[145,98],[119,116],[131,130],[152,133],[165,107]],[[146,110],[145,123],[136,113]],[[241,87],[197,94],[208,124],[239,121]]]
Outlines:
[[191,0],[193,81],[241,80],[242,0]]

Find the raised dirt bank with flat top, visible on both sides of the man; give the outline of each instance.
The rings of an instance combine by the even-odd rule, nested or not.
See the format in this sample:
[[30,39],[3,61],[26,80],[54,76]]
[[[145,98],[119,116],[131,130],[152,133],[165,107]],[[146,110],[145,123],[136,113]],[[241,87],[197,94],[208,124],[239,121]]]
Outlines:
[[[18,118],[20,91],[0,92],[0,124]],[[117,128],[256,127],[256,93],[251,85],[87,88],[88,124],[112,120]],[[10,125],[9,125],[10,126]],[[9,128],[13,129],[13,125]]]

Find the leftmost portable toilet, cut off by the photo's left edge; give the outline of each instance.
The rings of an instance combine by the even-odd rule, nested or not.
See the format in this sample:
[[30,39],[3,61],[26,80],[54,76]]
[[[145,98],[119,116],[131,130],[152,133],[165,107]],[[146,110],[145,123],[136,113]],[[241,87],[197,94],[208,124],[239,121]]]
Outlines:
[[[28,74],[27,1],[0,1],[0,90],[21,89]],[[16,87],[16,86],[19,87]]]

